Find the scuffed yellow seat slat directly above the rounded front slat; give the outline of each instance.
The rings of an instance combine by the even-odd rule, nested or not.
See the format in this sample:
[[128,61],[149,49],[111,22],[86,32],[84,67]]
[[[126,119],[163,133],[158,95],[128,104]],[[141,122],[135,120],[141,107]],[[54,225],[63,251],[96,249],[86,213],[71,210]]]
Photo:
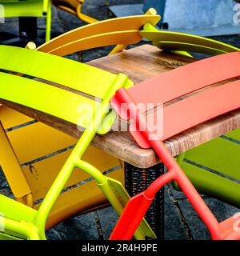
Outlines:
[[[49,190],[50,186],[54,182],[58,171],[61,170],[70,152],[71,150],[67,150],[66,152],[56,154],[53,157],[35,162],[34,164],[23,168],[26,179],[30,184],[34,201],[43,198],[46,195],[47,190]],[[98,150],[94,146],[90,146],[88,150],[86,150],[83,160],[92,163],[102,172],[111,170],[116,166],[120,166],[120,162],[117,158]],[[73,186],[88,178],[90,178],[89,174],[75,168],[65,187]],[[94,194],[92,194],[92,196],[94,196]]]

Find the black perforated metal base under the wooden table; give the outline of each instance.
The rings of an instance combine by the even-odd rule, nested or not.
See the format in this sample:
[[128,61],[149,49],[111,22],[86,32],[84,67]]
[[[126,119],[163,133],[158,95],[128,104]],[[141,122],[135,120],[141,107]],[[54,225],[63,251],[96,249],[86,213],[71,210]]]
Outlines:
[[[130,196],[141,193],[160,175],[164,174],[164,165],[159,163],[148,169],[139,169],[129,163],[124,163],[125,186]],[[146,220],[154,230],[159,240],[164,239],[164,188],[158,191],[150,209],[146,213]]]

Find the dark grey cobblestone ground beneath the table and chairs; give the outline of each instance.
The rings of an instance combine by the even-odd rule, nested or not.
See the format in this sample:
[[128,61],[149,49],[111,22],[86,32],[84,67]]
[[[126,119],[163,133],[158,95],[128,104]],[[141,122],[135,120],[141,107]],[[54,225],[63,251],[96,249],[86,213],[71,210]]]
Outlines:
[[[141,3],[137,0],[86,0],[86,4],[82,9],[86,14],[90,14],[99,20],[112,18],[108,6],[122,3]],[[68,30],[72,30],[78,26],[84,25],[84,22],[78,18],[68,14],[62,10],[53,8],[53,35],[61,34]],[[42,26],[42,21],[39,22]],[[7,20],[6,24],[0,25],[0,31],[18,32],[18,19]],[[240,47],[239,36],[222,36],[216,37],[222,42]],[[105,56],[110,48],[102,48],[99,50],[86,50],[82,55],[73,54],[70,58],[83,62],[88,62],[94,58]],[[2,174],[0,173],[0,193],[12,197],[9,186]],[[219,202],[212,198],[204,198],[206,204],[214,211],[219,221],[239,210]],[[166,186],[165,193],[165,238],[166,239],[208,239],[210,235],[206,230],[206,226],[202,224],[198,215],[191,208],[190,203],[182,193],[174,190],[170,185]],[[109,237],[111,230],[117,220],[117,214],[111,207],[98,210],[90,214],[84,214],[75,218],[70,218],[66,222],[62,222],[47,232],[50,239],[106,239]]]

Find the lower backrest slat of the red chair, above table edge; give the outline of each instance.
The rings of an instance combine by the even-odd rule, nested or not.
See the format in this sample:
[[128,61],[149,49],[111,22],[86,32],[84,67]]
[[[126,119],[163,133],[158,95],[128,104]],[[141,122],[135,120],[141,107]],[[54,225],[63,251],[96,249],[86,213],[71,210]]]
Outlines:
[[[221,114],[226,114],[240,107],[240,81],[229,82],[210,90],[194,94],[182,101],[175,102],[163,108],[163,119],[158,111],[154,111],[153,118],[148,116],[149,123],[157,126],[158,120],[163,122],[162,140],[179,134],[184,130],[197,126]],[[161,127],[161,123],[158,122]],[[157,128],[156,128],[157,129]]]

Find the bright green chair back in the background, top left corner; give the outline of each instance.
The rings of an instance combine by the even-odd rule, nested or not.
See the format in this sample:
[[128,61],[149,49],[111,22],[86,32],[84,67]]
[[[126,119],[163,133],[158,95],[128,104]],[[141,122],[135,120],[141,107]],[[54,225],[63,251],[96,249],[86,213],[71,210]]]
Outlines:
[[50,0],[0,0],[4,7],[4,17],[39,17],[46,18],[46,42],[50,40],[51,32],[51,2]]

